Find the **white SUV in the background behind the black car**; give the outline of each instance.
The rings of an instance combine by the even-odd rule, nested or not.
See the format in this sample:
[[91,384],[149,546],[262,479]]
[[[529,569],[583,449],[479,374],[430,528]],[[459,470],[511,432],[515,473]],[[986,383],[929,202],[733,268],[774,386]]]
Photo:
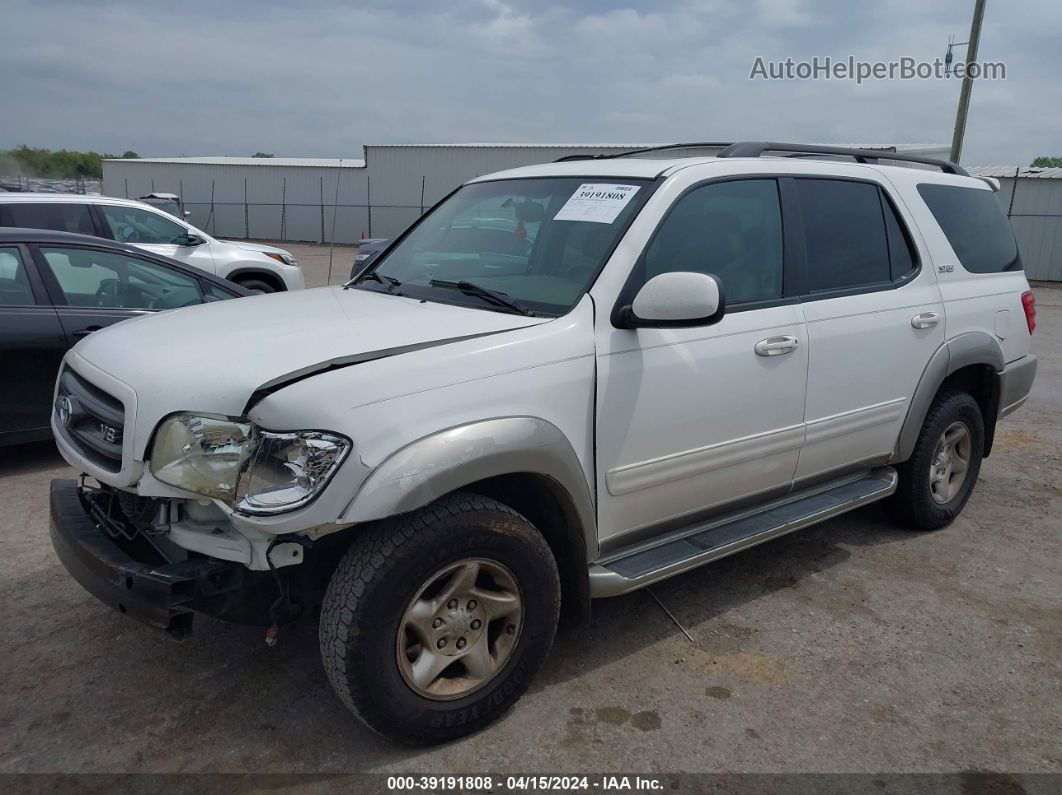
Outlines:
[[282,248],[218,240],[151,205],[63,193],[0,193],[0,226],[117,240],[235,281],[247,290],[302,290],[303,269]]

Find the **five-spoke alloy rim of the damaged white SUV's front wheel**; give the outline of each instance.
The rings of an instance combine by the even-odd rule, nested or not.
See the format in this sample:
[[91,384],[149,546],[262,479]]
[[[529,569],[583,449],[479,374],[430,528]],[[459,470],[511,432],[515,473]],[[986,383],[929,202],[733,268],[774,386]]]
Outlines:
[[501,671],[523,623],[519,586],[508,568],[485,558],[448,564],[428,577],[402,613],[398,670],[419,695],[460,698]]

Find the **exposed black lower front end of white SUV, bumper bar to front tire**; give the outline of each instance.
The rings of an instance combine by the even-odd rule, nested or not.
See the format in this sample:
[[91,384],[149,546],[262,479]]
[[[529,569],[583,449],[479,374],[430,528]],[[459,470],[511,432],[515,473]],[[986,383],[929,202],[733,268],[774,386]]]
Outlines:
[[[196,517],[194,507],[189,512],[195,504],[53,480],[52,546],[89,593],[178,640],[190,634],[195,612],[275,627],[320,603],[339,554],[330,543],[277,536],[264,556],[268,569],[254,571],[241,560],[174,541],[175,534],[182,543],[189,537],[212,537],[221,548],[232,534],[221,522],[202,521],[207,517]],[[303,565],[273,566],[273,553],[281,545],[298,550]]]

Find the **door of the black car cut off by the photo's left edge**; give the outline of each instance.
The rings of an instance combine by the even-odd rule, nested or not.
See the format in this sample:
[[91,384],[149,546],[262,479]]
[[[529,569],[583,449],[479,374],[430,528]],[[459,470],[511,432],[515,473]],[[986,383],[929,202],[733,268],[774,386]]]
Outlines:
[[[0,444],[47,434],[52,387],[67,349],[29,252],[0,246]],[[39,431],[40,433],[36,433]]]

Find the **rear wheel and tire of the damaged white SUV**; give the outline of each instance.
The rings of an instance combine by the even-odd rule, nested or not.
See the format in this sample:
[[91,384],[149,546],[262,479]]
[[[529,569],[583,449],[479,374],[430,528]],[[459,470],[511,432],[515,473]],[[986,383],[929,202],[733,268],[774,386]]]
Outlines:
[[[942,454],[946,434],[967,434],[965,454],[953,445],[952,455]],[[950,524],[970,499],[977,483],[984,452],[984,420],[977,401],[969,393],[942,392],[926,414],[922,432],[911,457],[896,467],[900,483],[889,499],[895,518],[911,530],[939,530]],[[961,481],[953,477],[954,470],[964,461]],[[938,466],[950,461],[952,466]],[[950,472],[947,482],[941,477]]]

